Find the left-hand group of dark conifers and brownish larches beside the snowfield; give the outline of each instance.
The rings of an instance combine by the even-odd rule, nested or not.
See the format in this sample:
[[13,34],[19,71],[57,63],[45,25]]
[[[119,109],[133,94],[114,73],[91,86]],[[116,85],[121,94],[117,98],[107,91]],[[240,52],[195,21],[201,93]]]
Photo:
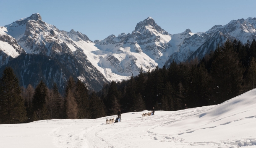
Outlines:
[[81,81],[69,78],[64,96],[57,84],[47,88],[41,80],[36,88],[19,86],[12,68],[0,78],[0,123],[27,123],[47,119],[99,118],[105,116],[104,104],[94,91],[89,93]]

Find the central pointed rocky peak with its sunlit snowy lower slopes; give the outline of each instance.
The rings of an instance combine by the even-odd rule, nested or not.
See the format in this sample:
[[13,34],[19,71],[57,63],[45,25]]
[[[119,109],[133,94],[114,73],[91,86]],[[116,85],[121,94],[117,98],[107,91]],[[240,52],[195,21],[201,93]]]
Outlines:
[[[139,68],[153,69],[163,66],[168,57],[163,53],[169,46],[171,36],[158,26],[154,19],[147,18],[139,22],[135,30],[127,35],[110,35],[104,40],[95,40],[101,51],[99,65],[109,68],[112,73],[130,76],[138,74]],[[104,51],[104,52],[103,52]]]

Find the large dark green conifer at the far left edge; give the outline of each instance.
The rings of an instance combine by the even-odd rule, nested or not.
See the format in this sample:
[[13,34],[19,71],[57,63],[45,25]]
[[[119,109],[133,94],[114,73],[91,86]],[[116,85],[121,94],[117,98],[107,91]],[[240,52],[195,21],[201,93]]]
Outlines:
[[0,123],[21,123],[27,120],[21,88],[12,68],[6,67],[0,78]]

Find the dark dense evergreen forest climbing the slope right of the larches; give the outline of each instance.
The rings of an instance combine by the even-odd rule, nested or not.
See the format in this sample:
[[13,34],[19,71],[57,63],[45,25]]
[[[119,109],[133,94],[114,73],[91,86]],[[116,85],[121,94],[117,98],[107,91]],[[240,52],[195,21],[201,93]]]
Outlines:
[[174,60],[168,68],[158,66],[122,82],[105,84],[97,95],[107,115],[152,110],[180,110],[214,105],[256,87],[256,41],[243,45],[226,40],[202,59],[183,63]]

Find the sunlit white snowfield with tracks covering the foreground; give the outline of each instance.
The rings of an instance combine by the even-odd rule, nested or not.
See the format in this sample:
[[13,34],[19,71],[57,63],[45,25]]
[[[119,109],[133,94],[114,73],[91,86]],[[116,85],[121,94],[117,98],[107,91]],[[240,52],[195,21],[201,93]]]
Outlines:
[[1,148],[256,148],[256,89],[219,105],[0,125]]

